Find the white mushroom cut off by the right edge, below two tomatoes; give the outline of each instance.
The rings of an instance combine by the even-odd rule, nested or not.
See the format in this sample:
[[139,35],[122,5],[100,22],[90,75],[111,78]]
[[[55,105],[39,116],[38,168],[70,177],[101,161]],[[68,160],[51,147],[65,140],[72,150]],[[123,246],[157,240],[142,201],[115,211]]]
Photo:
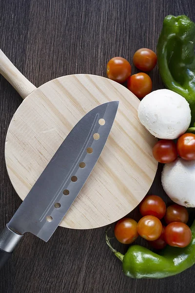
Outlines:
[[195,208],[195,161],[178,158],[166,164],[161,181],[165,192],[175,203]]

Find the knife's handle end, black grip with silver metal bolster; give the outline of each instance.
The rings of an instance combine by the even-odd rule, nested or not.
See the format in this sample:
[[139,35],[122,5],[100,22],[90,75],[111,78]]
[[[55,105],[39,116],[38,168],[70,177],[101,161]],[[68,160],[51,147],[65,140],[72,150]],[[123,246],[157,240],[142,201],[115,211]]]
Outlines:
[[5,229],[0,233],[0,269],[12,256],[12,252],[22,236],[23,235],[10,229],[8,225],[6,225]]

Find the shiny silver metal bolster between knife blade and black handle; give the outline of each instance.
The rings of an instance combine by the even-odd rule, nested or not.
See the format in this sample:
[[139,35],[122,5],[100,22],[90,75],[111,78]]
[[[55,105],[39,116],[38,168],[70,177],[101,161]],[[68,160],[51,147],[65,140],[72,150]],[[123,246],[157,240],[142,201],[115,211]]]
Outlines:
[[0,249],[6,252],[12,252],[22,236],[6,225],[5,229],[0,233]]

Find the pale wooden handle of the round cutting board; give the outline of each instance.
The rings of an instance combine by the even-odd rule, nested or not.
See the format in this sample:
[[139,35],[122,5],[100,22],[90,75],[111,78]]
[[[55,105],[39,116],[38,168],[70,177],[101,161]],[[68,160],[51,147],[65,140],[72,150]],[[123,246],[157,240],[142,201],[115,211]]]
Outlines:
[[17,90],[22,99],[30,95],[37,87],[31,84],[13,63],[0,50],[0,74]]

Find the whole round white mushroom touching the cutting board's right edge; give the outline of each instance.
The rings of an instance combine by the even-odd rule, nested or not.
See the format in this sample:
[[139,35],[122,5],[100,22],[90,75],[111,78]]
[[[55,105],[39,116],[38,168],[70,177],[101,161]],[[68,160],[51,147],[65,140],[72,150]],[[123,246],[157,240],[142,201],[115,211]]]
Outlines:
[[158,89],[141,100],[138,118],[157,138],[176,139],[188,129],[191,110],[181,95],[169,89]]

